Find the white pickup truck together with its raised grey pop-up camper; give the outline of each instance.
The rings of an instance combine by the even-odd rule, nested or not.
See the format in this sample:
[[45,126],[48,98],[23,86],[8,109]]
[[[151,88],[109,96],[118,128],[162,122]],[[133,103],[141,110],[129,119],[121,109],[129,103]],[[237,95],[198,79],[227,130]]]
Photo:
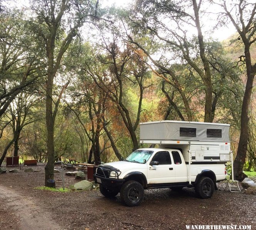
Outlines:
[[125,160],[94,167],[94,180],[105,197],[120,192],[125,205],[137,206],[144,189],[194,187],[198,197],[212,197],[216,182],[226,179],[230,161],[229,124],[154,121],[140,123],[142,148]]

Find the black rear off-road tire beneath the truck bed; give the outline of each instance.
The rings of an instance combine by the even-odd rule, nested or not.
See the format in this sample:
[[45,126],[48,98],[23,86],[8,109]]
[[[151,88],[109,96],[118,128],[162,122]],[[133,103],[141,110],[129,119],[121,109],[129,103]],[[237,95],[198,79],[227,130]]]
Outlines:
[[214,192],[214,183],[209,177],[201,177],[195,185],[196,195],[202,199],[212,197]]

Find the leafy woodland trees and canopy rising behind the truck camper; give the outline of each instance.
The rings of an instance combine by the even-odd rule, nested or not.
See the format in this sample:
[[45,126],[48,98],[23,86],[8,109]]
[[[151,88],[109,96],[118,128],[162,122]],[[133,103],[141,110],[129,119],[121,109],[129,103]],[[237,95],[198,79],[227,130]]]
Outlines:
[[[243,179],[256,161],[255,10],[246,0],[1,3],[0,165],[12,154],[45,161],[47,185],[60,157],[100,164],[141,147],[139,122],[223,122]],[[211,36],[230,25],[228,40]]]

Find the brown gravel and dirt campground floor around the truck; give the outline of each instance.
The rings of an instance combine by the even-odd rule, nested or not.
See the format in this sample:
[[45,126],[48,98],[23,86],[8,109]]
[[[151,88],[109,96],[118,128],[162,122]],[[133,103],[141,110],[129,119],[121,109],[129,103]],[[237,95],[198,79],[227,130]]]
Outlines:
[[[7,169],[15,168],[19,169]],[[19,173],[0,174],[1,230],[185,230],[186,225],[251,225],[256,229],[256,196],[225,191],[225,181],[218,183],[219,190],[211,199],[198,199],[194,189],[180,193],[151,189],[145,191],[140,206],[125,207],[119,195],[107,199],[97,190],[37,190],[44,185],[44,165],[32,168],[39,172],[24,172],[22,166]],[[60,173],[55,174],[55,181],[60,188]],[[64,175],[64,181],[68,187],[79,180]]]

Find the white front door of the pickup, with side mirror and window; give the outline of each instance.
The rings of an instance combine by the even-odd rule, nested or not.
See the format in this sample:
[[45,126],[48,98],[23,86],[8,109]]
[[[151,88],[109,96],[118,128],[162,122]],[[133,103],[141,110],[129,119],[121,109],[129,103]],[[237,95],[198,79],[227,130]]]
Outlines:
[[165,184],[175,182],[175,168],[168,151],[156,152],[151,161],[158,161],[159,165],[149,165],[147,169],[148,184]]

